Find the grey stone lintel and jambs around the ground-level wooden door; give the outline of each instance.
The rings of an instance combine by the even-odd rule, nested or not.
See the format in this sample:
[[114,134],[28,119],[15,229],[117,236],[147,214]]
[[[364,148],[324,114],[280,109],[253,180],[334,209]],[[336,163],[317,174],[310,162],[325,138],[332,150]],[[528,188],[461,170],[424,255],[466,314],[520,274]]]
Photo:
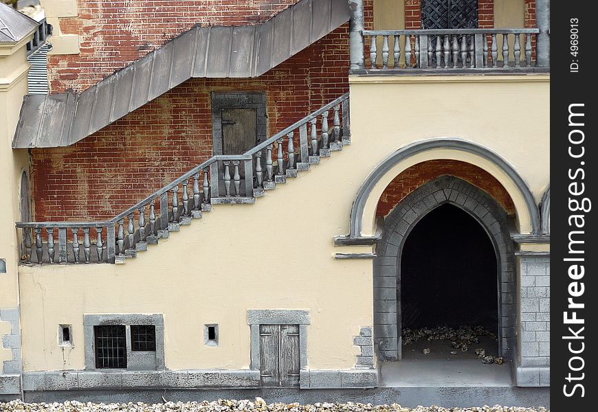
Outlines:
[[309,310],[248,309],[247,324],[251,330],[252,370],[259,371],[261,368],[260,325],[299,325],[299,366],[307,369],[307,325],[311,324]]

